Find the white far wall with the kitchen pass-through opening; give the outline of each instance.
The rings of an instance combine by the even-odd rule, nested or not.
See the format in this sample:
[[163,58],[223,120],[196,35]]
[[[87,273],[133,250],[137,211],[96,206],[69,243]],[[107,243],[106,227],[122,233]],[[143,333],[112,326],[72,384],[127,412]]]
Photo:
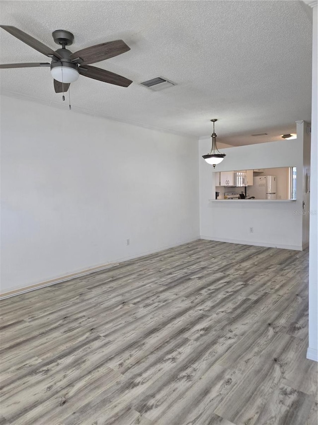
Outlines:
[[[214,191],[212,167],[201,158],[209,145],[210,138],[199,141],[201,237],[302,250],[302,178],[297,179],[300,196],[293,202],[211,202],[209,199]],[[227,156],[216,165],[216,171],[291,165],[303,169],[303,143],[299,139],[231,147],[223,151]],[[253,233],[249,232],[250,227],[253,227]]]

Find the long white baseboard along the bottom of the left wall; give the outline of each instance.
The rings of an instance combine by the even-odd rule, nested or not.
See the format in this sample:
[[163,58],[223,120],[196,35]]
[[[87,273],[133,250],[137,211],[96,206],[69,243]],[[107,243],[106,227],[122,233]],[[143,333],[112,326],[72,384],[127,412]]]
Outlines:
[[36,290],[36,289],[44,288],[46,286],[56,285],[57,283],[67,282],[67,281],[70,281],[71,279],[79,278],[79,277],[85,276],[85,275],[90,275],[91,273],[100,272],[102,270],[109,269],[110,267],[117,266],[119,263],[122,263],[124,261],[133,260],[134,258],[139,258],[139,257],[145,257],[149,254],[155,254],[157,252],[164,251],[164,250],[169,249],[169,248],[174,248],[174,247],[178,247],[180,245],[184,245],[184,244],[188,244],[188,243],[197,241],[198,239],[200,239],[200,236],[197,236],[196,238],[192,238],[192,239],[189,239],[189,240],[186,240],[186,241],[179,242],[177,244],[167,245],[167,246],[164,246],[164,247],[159,248],[157,250],[142,252],[142,253],[138,253],[138,254],[133,255],[133,256],[120,258],[120,259],[115,260],[114,263],[108,263],[108,264],[105,264],[105,265],[94,267],[92,269],[86,269],[86,270],[78,271],[78,272],[75,272],[75,273],[67,275],[67,276],[61,276],[59,278],[52,279],[50,281],[36,283],[36,284],[33,284],[33,285],[28,285],[28,286],[23,286],[23,287],[14,287],[11,290],[7,290],[6,292],[0,293],[0,300],[5,299],[5,298],[9,298],[11,296],[19,295],[21,293],[30,292],[30,291],[33,291],[33,290]]

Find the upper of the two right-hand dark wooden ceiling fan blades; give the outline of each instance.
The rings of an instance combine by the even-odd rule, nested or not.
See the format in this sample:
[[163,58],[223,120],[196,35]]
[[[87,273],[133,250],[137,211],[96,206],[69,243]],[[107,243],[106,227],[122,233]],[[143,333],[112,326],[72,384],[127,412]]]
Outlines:
[[121,55],[128,50],[130,50],[130,47],[123,40],[108,41],[72,53],[71,59],[81,58],[83,60],[81,64],[86,65]]

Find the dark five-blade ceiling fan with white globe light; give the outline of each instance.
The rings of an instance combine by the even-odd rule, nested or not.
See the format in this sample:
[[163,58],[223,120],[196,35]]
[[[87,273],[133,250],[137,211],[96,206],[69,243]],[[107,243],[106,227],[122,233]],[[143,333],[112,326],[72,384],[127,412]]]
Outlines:
[[123,40],[96,44],[95,46],[86,47],[85,49],[72,53],[70,50],[66,49],[66,46],[70,46],[74,40],[74,35],[70,31],[63,29],[53,31],[52,36],[54,41],[62,46],[54,51],[41,43],[41,41],[38,41],[31,37],[31,35],[26,34],[14,26],[0,25],[0,27],[23,41],[23,43],[52,59],[51,63],[7,63],[0,65],[0,68],[49,66],[54,78],[54,90],[56,93],[68,91],[70,83],[76,81],[79,78],[79,74],[104,83],[115,84],[116,86],[128,87],[132,83],[131,80],[121,75],[88,65],[90,63],[109,59],[130,50],[130,47],[128,47]]

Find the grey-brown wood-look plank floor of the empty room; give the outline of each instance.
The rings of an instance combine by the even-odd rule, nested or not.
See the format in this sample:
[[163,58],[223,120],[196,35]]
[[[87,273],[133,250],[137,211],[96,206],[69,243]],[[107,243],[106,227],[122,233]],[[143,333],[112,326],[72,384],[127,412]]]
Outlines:
[[307,251],[200,240],[5,299],[0,425],[317,425],[307,286]]

